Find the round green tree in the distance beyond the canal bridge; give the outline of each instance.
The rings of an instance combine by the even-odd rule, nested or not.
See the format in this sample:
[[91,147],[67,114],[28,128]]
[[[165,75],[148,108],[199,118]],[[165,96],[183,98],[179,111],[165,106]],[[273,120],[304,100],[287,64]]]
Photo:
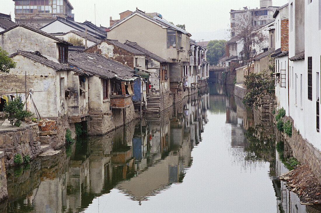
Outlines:
[[211,65],[217,65],[220,58],[225,53],[225,40],[211,40],[207,43],[206,48],[208,49],[206,58]]

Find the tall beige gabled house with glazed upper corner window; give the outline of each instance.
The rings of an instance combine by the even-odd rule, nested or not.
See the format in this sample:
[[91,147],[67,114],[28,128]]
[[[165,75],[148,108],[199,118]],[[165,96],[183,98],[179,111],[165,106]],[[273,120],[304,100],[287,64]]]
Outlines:
[[159,14],[155,17],[136,9],[133,13],[107,29],[109,39],[131,40],[144,49],[168,60],[170,90],[174,102],[182,98],[183,66],[189,62],[191,34],[167,22]]

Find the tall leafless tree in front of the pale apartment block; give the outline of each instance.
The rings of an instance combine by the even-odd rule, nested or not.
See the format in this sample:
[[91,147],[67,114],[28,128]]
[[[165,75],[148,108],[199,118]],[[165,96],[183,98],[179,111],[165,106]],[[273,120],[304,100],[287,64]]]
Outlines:
[[268,35],[264,33],[262,26],[256,25],[256,21],[252,12],[248,11],[239,14],[233,26],[235,39],[243,46],[240,53],[243,65],[247,65],[247,72],[250,70],[257,51],[266,47],[268,42]]

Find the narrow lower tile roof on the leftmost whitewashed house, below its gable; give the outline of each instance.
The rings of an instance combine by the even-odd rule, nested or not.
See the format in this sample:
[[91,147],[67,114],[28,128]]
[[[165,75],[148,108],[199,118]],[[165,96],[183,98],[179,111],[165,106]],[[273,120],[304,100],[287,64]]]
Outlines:
[[[24,57],[30,58],[36,62],[39,62],[43,65],[46,65],[48,67],[54,68],[57,71],[65,71],[65,70],[73,70],[76,71],[74,68],[70,67],[67,64],[61,64],[61,63],[57,63],[54,62],[52,60],[47,59],[46,57],[42,56],[40,52],[36,51],[36,52],[29,52],[29,51],[23,51],[23,50],[18,50],[17,52],[11,54],[9,57],[14,57],[16,55],[22,55]],[[80,71],[78,71],[80,72]]]

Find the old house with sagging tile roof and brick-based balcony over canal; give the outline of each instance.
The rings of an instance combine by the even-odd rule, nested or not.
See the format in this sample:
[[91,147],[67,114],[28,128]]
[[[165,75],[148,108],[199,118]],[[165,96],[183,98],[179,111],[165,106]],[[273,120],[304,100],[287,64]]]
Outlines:
[[100,54],[70,52],[68,64],[89,73],[90,135],[105,134],[137,118],[132,102],[134,70]]

